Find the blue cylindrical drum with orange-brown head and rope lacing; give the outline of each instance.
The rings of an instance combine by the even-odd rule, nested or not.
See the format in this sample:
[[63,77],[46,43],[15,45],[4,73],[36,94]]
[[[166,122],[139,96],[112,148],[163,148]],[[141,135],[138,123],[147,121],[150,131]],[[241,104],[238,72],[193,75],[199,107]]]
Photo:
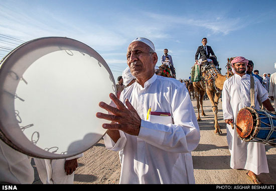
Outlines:
[[243,108],[237,115],[236,131],[243,141],[276,146],[276,112]]

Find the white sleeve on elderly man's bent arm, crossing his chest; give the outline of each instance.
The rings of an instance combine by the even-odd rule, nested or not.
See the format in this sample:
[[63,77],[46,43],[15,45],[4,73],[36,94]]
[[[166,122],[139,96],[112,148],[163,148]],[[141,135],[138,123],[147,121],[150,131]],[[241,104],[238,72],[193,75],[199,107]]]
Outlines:
[[174,124],[163,125],[142,120],[138,137],[169,152],[191,152],[199,143],[200,132],[185,86],[175,89],[171,109]]

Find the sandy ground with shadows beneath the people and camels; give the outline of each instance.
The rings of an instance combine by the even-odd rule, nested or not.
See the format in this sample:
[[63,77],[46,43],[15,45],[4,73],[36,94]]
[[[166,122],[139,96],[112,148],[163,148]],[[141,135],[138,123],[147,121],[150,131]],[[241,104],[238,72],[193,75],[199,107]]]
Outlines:
[[[192,100],[197,114],[196,101]],[[221,103],[218,105],[218,120],[222,134],[215,135],[213,113],[209,100],[203,101],[207,116],[199,122],[201,139],[198,147],[192,152],[196,184],[250,184],[245,176],[246,170],[230,168],[230,153],[226,140],[226,126],[222,117]],[[259,179],[266,184],[276,183],[276,148],[265,146],[270,173],[262,173]],[[35,164],[32,163],[35,172]],[[118,153],[107,150],[103,140],[87,150],[78,160],[75,171],[75,184],[117,184],[120,177]],[[36,172],[34,183],[41,181]]]

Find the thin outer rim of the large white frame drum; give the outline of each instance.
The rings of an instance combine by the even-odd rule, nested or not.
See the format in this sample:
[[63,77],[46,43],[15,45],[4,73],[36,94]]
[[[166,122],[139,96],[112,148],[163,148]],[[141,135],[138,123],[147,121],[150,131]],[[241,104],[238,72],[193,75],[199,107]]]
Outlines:
[[[113,85],[114,85],[114,87],[115,87],[114,76],[113,76],[113,74],[112,74],[112,72],[111,72],[109,66],[108,66],[107,63],[105,62],[105,60],[101,57],[101,55],[98,54],[98,53],[97,53],[94,49],[92,49],[90,46],[88,46],[88,45],[86,45],[86,44],[84,44],[84,43],[82,43],[82,42],[80,42],[80,41],[77,41],[77,40],[75,40],[75,39],[71,39],[71,38],[67,38],[67,37],[42,37],[42,38],[37,38],[37,39],[34,39],[34,40],[30,40],[30,41],[28,41],[28,42],[25,42],[25,43],[19,45],[18,47],[16,47],[14,50],[12,50],[9,54],[7,54],[7,55],[0,61],[0,76],[1,76],[1,75],[4,75],[3,72],[5,71],[5,66],[9,64],[9,59],[10,59],[11,57],[15,56],[16,53],[17,53],[19,50],[22,50],[22,48],[24,48],[26,45],[28,45],[28,44],[30,44],[30,43],[32,43],[32,42],[41,41],[41,40],[46,40],[46,39],[52,39],[52,40],[54,40],[54,39],[71,40],[71,41],[75,41],[75,42],[77,42],[77,43],[82,44],[84,47],[87,48],[87,50],[88,50],[88,49],[91,50],[91,52],[93,52],[93,53],[95,54],[95,57],[94,57],[94,56],[93,56],[93,57],[94,57],[95,59],[97,59],[98,61],[100,61],[100,63],[105,67],[105,69],[106,69],[107,72],[109,73],[109,75],[110,75],[110,76],[109,76],[109,77],[110,77],[110,80],[113,82]],[[91,53],[91,52],[90,52],[90,53]],[[10,63],[10,64],[11,64],[11,63]],[[8,66],[7,66],[7,67],[8,67]],[[5,75],[7,75],[7,74],[5,74]],[[4,82],[3,82],[3,81],[0,81],[0,85],[2,86],[3,84],[4,84]],[[114,88],[114,90],[115,90],[115,94],[116,94],[116,88]],[[1,118],[0,118],[0,126],[4,127]],[[17,151],[19,151],[19,152],[21,152],[21,153],[24,153],[24,154],[26,154],[26,155],[32,156],[32,157],[36,157],[36,158],[48,158],[48,159],[69,158],[69,157],[72,157],[72,156],[76,156],[76,155],[78,155],[78,154],[81,154],[81,153],[85,152],[86,150],[90,149],[91,147],[93,147],[94,145],[96,145],[96,144],[100,141],[100,139],[102,139],[102,137],[103,137],[105,134],[106,134],[106,131],[105,131],[105,133],[99,138],[99,140],[98,140],[96,143],[94,143],[93,145],[91,145],[89,148],[86,148],[86,149],[81,150],[79,153],[64,154],[64,155],[63,155],[63,154],[55,154],[55,153],[51,153],[51,152],[50,152],[52,155],[55,155],[55,157],[48,157],[48,156],[37,156],[37,155],[34,155],[33,153],[30,153],[30,152],[26,151],[26,150],[28,150],[28,149],[26,149],[26,150],[22,149],[21,147],[18,146],[18,144],[14,144],[14,143],[13,143],[13,140],[9,139],[9,138],[6,136],[7,134],[5,134],[5,132],[3,132],[3,130],[0,128],[0,139],[1,139],[2,141],[4,141],[7,145],[9,145],[10,147],[12,147],[13,149],[15,149],[15,150],[17,150]],[[9,136],[10,136],[10,135],[9,135]],[[35,146],[36,146],[36,145],[35,145]],[[38,146],[36,146],[36,147],[38,147]],[[42,148],[40,148],[40,147],[38,147],[38,148],[39,148],[39,149],[42,149]],[[43,149],[42,149],[42,150],[43,150]],[[47,151],[46,151],[46,152],[47,152]]]

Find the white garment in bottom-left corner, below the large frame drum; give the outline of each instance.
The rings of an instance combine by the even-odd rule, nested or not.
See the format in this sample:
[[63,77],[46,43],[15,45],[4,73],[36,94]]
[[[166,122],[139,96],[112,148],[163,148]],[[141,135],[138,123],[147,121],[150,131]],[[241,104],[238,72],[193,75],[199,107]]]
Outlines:
[[31,184],[34,178],[31,157],[16,151],[0,139],[0,183]]

